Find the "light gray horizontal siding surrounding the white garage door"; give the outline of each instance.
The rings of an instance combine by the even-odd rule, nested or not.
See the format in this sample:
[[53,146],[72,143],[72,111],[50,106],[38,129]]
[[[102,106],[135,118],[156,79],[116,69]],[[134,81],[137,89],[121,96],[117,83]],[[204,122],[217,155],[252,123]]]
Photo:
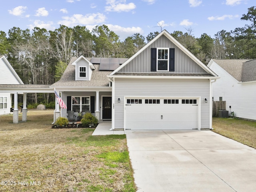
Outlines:
[[[124,128],[124,97],[201,97],[201,128],[210,128],[209,80],[178,79],[115,79],[115,128]],[[154,112],[152,112],[154,113]],[[143,115],[143,114],[142,114]]]

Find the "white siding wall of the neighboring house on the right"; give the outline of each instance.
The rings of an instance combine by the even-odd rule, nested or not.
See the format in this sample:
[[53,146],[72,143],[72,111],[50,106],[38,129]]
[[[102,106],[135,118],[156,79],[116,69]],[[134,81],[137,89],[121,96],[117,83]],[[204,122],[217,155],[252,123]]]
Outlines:
[[239,83],[228,72],[213,62],[210,66],[220,79],[212,84],[214,101],[222,97],[226,101],[226,110],[234,111],[237,117],[256,120],[256,82]]

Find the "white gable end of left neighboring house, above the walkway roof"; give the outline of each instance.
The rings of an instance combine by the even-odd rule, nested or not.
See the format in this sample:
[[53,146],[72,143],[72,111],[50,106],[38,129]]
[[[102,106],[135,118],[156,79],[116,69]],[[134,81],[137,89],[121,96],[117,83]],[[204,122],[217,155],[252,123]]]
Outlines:
[[[3,60],[4,66],[1,66],[0,78],[6,78],[8,82],[4,81],[5,84],[24,84],[15,70],[12,68],[11,64],[5,58],[5,56],[0,55],[0,60]],[[7,67],[7,68],[6,68]],[[7,71],[6,71],[7,70]],[[8,73],[7,73],[8,72]],[[2,73],[2,74],[1,74]],[[12,76],[11,76],[12,75]],[[5,77],[6,76],[6,77]],[[7,78],[8,77],[8,78]],[[10,78],[15,78],[15,80],[10,80]],[[1,81],[2,83],[3,81]]]

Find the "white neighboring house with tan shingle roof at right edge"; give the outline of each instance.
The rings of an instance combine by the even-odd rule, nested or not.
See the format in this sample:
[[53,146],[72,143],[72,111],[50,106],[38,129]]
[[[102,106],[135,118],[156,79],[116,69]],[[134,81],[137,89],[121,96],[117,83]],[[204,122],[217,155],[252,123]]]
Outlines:
[[226,101],[226,110],[239,118],[256,120],[256,60],[212,59],[208,67],[220,76],[212,100]]

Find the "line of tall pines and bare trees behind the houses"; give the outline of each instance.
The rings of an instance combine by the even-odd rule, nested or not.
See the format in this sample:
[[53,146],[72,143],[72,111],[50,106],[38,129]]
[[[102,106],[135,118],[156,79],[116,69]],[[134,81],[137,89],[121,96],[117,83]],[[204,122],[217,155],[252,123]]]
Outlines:
[[[206,33],[195,38],[191,28],[185,33],[174,31],[171,35],[204,64],[212,58],[254,59],[256,6],[248,8],[241,20],[250,24],[230,32],[221,30],[213,38]],[[24,84],[53,84],[60,79],[73,56],[130,58],[158,34],[158,31],[150,32],[144,37],[136,33],[121,41],[106,25],[96,26],[92,32],[86,26],[60,25],[54,31],[13,27],[8,36],[0,31],[0,55],[6,56]],[[37,102],[37,98],[34,101]]]

